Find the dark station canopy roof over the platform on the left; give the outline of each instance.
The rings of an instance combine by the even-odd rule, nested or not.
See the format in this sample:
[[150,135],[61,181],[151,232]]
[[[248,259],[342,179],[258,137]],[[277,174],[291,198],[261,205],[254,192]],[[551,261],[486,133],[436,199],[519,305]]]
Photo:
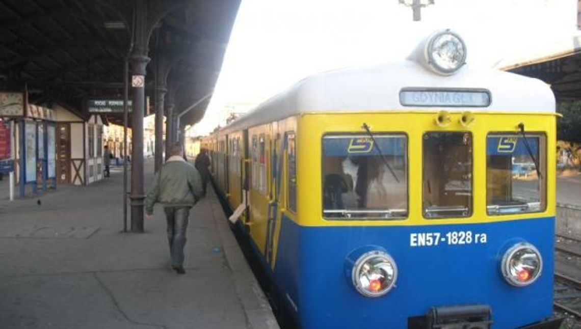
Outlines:
[[[150,109],[157,73],[179,113],[214,88],[240,1],[137,1],[145,1],[150,25]],[[135,2],[0,0],[0,91],[26,88],[31,103],[58,103],[84,118],[88,99],[123,99]],[[182,123],[199,121],[206,106],[200,103]],[[120,113],[102,115],[122,122]]]

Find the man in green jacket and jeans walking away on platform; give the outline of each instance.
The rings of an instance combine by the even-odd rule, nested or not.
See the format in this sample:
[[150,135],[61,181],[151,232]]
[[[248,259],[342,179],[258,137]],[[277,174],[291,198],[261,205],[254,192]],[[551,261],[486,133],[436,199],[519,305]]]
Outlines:
[[198,170],[184,160],[181,144],[169,147],[170,158],[155,175],[145,198],[147,218],[153,216],[153,205],[161,203],[167,219],[171,268],[184,274],[184,245],[189,209],[202,197],[202,179]]

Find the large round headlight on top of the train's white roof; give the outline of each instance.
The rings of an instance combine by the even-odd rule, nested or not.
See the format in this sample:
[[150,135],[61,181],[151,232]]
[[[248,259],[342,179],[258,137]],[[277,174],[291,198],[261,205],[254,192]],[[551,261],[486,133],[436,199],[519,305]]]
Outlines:
[[466,63],[466,45],[450,30],[436,32],[426,42],[425,57],[433,71],[450,75]]

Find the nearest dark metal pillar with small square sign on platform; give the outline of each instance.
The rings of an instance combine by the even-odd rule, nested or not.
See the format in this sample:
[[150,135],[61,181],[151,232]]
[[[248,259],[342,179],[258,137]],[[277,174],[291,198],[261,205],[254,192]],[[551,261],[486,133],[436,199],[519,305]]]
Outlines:
[[145,74],[149,63],[146,0],[135,1],[135,44],[131,53],[131,232],[144,232]]

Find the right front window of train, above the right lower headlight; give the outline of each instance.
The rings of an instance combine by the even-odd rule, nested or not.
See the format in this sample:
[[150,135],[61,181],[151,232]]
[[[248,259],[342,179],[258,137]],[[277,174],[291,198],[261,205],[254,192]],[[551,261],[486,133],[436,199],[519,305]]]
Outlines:
[[487,136],[486,208],[489,215],[544,210],[544,145],[545,136],[540,134],[527,134],[526,140],[514,133]]

